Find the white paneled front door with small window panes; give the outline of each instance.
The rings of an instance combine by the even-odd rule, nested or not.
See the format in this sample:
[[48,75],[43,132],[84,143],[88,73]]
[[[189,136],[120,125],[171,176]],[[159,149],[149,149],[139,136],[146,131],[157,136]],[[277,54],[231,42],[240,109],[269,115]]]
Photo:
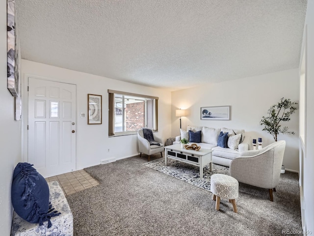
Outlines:
[[28,78],[28,163],[43,177],[76,170],[76,85]]

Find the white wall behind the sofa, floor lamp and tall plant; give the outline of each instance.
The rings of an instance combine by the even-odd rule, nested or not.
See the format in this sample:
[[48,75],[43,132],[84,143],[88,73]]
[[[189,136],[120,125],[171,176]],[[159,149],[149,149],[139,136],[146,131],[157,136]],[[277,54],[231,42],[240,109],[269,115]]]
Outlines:
[[[172,92],[172,136],[180,135],[180,121],[175,117],[176,109],[187,109],[189,115],[182,118],[182,127],[199,125],[213,128],[244,129],[252,138],[262,138],[263,147],[274,142],[272,136],[262,131],[260,121],[267,115],[267,110],[280,98],[290,98],[298,102],[298,69],[290,69],[249,78],[207,84],[192,89]],[[230,120],[201,120],[201,107],[231,106]],[[291,115],[287,126],[295,135],[278,136],[286,140],[287,147],[283,165],[286,169],[299,170],[299,114],[298,110]],[[284,123],[283,123],[284,125]]]

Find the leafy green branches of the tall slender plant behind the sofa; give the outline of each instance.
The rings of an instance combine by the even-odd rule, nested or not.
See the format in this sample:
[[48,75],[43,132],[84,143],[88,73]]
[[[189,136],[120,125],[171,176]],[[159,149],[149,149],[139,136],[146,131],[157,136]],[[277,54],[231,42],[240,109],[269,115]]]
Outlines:
[[281,121],[289,121],[290,115],[296,110],[298,103],[291,102],[290,99],[281,98],[277,104],[272,105],[267,114],[267,117],[262,117],[260,125],[264,125],[262,130],[270,133],[277,142],[277,136],[282,134],[294,134],[287,126],[281,127]]

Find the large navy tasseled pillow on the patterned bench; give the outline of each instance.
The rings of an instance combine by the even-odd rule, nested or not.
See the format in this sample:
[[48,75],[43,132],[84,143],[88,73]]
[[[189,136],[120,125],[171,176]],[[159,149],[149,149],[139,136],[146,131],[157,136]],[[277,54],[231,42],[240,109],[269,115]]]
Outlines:
[[19,163],[13,172],[11,200],[15,212],[30,223],[48,221],[59,215],[49,203],[49,187],[46,179],[29,163]]

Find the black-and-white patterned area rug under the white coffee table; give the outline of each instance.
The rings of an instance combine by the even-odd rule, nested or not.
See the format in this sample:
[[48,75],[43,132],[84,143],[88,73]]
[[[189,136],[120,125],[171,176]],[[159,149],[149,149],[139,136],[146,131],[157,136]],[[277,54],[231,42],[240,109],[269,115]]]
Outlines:
[[229,167],[212,164],[212,172],[209,172],[209,165],[207,165],[203,170],[203,178],[200,178],[199,167],[170,158],[168,158],[167,166],[165,166],[165,158],[159,158],[154,161],[143,163],[142,165],[209,192],[211,175],[224,174],[229,176]]

